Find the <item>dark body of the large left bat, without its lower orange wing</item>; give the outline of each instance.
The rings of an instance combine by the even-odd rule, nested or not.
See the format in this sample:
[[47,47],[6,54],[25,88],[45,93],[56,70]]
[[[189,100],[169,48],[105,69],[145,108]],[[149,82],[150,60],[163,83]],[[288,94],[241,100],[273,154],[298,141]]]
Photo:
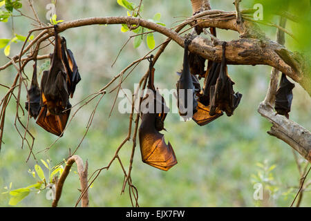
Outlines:
[[41,106],[46,106],[48,112],[53,115],[60,115],[70,106],[68,90],[68,71],[64,64],[64,55],[62,52],[62,39],[57,34],[57,26],[55,31],[55,48],[53,52],[52,62],[48,73],[42,75],[41,79],[41,97],[45,97],[46,104],[40,100]]

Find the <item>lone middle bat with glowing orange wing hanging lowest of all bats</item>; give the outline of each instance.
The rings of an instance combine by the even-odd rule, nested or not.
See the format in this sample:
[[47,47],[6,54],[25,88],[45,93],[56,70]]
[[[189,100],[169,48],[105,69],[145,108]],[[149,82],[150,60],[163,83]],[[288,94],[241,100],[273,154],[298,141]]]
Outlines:
[[[153,84],[154,68],[152,67],[152,59],[149,59],[149,82],[147,88],[152,91],[153,97],[145,97],[153,99],[153,113],[142,113],[142,123],[140,124],[138,137],[140,139],[140,152],[142,154],[142,162],[154,166],[163,171],[168,171],[172,166],[177,164],[176,155],[170,143],[166,144],[164,135],[159,131],[164,129],[164,119],[167,115],[163,111],[166,107],[164,98],[161,95],[160,101],[156,100],[157,91]],[[151,103],[152,103],[151,102]],[[162,111],[156,113],[156,103],[162,104]],[[149,103],[150,104],[150,103]]]

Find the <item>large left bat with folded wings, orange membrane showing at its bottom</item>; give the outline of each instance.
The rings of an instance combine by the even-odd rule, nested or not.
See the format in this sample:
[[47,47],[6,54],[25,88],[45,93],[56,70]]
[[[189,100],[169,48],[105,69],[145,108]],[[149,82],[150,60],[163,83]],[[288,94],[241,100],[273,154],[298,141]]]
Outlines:
[[66,39],[59,37],[55,30],[55,48],[50,70],[45,70],[41,79],[41,111],[37,124],[46,131],[62,136],[71,105],[75,87],[81,80],[73,52],[66,48]]

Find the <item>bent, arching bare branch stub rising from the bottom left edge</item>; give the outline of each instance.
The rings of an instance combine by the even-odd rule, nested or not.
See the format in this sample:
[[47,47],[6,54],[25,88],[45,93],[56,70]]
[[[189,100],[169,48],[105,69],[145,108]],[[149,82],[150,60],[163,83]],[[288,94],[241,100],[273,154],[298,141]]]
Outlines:
[[81,191],[86,192],[84,193],[82,197],[82,207],[88,207],[88,191],[87,191],[87,186],[88,186],[88,161],[86,160],[85,167],[83,166],[83,161],[81,157],[78,155],[73,155],[68,159],[66,162],[66,166],[64,169],[64,172],[62,173],[61,177],[59,177],[59,180],[56,185],[56,193],[55,193],[55,200],[53,200],[52,207],[56,207],[57,203],[62,195],[62,189],[64,186],[64,182],[66,180],[66,177],[69,174],[69,171],[71,169],[71,166],[73,166],[73,163],[77,164],[77,171],[79,174],[79,180],[80,180],[80,186],[81,186]]

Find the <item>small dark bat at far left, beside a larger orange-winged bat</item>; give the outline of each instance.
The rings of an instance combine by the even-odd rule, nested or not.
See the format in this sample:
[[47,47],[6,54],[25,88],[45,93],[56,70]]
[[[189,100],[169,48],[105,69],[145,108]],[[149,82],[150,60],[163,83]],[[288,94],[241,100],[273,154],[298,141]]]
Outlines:
[[40,88],[37,80],[37,60],[35,60],[35,64],[33,65],[32,80],[28,90],[27,99],[28,101],[25,102],[25,109],[26,111],[29,109],[30,117],[36,119],[41,109]]

